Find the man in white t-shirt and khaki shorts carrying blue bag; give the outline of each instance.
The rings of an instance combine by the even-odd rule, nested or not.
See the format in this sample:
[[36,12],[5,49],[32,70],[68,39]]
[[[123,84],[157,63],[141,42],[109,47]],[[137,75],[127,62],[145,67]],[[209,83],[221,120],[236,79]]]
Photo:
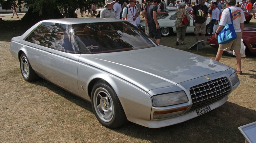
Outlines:
[[236,73],[242,74],[240,49],[241,49],[242,33],[244,30],[245,15],[243,10],[239,7],[236,7],[235,5],[236,5],[236,0],[227,0],[227,6],[222,12],[219,27],[215,32],[215,38],[218,39],[217,38],[218,33],[223,29],[223,27],[226,24],[232,24],[230,19],[230,13],[229,13],[229,8],[230,8],[232,13],[233,26],[236,31],[237,39],[227,44],[220,44],[215,60],[219,61],[224,51],[234,50],[236,54],[236,61],[237,61]]

